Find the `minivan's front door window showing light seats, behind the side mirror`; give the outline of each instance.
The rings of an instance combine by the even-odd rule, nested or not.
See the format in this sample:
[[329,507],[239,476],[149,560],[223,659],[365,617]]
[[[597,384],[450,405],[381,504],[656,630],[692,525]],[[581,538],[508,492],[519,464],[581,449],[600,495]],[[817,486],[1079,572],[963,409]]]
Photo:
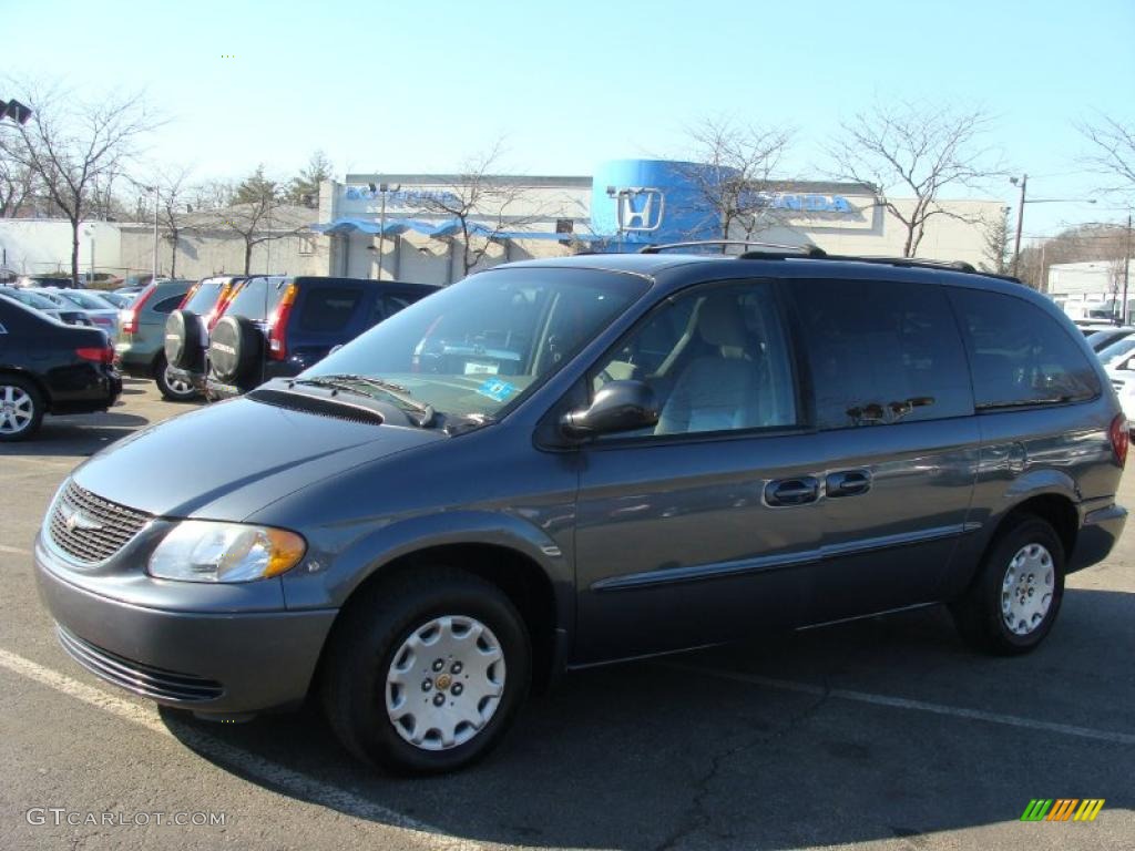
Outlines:
[[614,380],[645,381],[658,398],[657,426],[638,436],[798,422],[791,356],[768,283],[697,287],[667,300],[603,359],[591,388]]

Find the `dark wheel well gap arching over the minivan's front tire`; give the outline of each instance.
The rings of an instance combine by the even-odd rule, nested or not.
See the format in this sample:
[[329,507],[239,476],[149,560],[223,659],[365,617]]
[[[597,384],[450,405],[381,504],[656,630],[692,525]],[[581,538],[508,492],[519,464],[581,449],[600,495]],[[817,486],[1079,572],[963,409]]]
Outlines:
[[343,610],[362,597],[362,589],[426,565],[468,571],[504,591],[524,620],[532,641],[532,689],[544,691],[550,683],[555,663],[555,593],[540,565],[514,549],[491,544],[453,544],[409,553],[382,565],[361,582],[351,592]]

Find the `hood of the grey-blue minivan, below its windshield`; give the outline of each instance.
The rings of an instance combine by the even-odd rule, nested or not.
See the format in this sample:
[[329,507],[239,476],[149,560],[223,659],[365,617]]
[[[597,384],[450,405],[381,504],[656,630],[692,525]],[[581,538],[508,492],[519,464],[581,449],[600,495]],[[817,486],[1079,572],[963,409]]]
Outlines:
[[104,499],[150,514],[238,521],[329,475],[445,439],[440,431],[238,398],[125,438],[74,478]]

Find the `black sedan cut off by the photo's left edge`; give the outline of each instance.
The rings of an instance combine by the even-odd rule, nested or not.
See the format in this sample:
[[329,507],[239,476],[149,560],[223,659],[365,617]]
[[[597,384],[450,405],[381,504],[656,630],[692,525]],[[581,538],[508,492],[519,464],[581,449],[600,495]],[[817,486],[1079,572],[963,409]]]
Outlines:
[[26,440],[44,414],[106,411],[123,390],[98,328],[76,328],[0,298],[0,443]]

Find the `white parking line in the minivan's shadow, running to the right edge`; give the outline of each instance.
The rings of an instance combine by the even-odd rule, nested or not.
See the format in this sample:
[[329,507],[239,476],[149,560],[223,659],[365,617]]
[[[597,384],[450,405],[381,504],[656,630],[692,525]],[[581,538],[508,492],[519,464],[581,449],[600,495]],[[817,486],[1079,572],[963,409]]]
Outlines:
[[1002,715],[1001,713],[986,713],[981,709],[967,709],[961,706],[948,706],[945,703],[931,703],[925,700],[910,700],[909,698],[894,698],[888,694],[872,694],[866,691],[851,691],[849,689],[825,689],[823,685],[814,683],[801,683],[794,680],[776,680],[771,676],[759,674],[742,674],[734,671],[721,671],[718,668],[703,668],[693,665],[680,665],[676,663],[656,663],[661,667],[683,671],[688,674],[703,674],[714,676],[720,680],[731,680],[738,683],[749,683],[751,685],[763,685],[767,689],[779,691],[794,691],[801,694],[815,694],[817,697],[827,694],[840,700],[852,700],[857,703],[871,703],[872,706],[885,706],[892,709],[914,709],[920,713],[933,715],[950,715],[955,718],[968,718],[969,721],[984,721],[990,724],[1004,724],[1010,727],[1022,727],[1024,730],[1039,730],[1045,733],[1060,733],[1062,735],[1078,736],[1079,739],[1094,739],[1100,742],[1111,742],[1113,744],[1135,744],[1135,734],[1119,733],[1111,730],[1095,730],[1093,727],[1078,727],[1074,724],[1058,724],[1051,721],[1036,721],[1034,718],[1023,718],[1018,715]]

